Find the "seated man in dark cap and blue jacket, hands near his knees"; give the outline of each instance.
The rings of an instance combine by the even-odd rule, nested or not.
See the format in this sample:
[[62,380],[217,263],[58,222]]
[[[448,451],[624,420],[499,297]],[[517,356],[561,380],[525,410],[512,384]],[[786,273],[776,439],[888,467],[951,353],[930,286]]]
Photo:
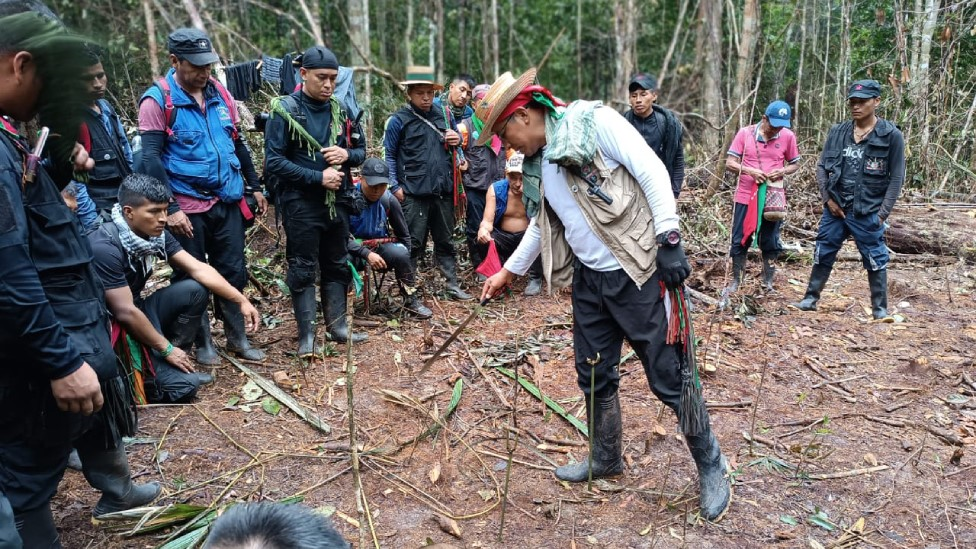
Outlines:
[[[378,271],[393,269],[400,285],[400,295],[403,296],[403,308],[417,318],[430,318],[433,312],[417,297],[417,275],[410,262],[410,230],[400,201],[387,190],[390,172],[386,162],[379,158],[367,159],[363,163],[362,176],[360,189],[366,199],[366,208],[349,219],[349,230],[352,232],[349,255],[365,259],[370,267]],[[390,237],[388,220],[397,241],[384,242],[373,249],[364,245],[364,240]]]

